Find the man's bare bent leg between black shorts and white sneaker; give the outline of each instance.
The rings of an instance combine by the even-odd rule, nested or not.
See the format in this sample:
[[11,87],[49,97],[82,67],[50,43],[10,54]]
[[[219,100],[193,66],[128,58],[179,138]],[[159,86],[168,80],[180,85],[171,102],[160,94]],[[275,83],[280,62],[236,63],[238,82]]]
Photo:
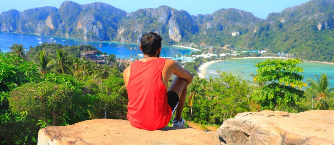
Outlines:
[[176,76],[168,91],[174,91],[179,96],[179,104],[176,108],[175,119],[181,121],[181,114],[187,97],[187,81]]

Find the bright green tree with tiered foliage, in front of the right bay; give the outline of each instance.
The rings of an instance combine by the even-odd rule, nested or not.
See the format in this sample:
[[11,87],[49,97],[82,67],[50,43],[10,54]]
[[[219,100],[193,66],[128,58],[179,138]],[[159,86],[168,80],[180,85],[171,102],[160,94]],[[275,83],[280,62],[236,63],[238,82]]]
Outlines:
[[303,63],[300,59],[268,59],[256,64],[258,70],[254,81],[269,84],[254,90],[252,100],[257,101],[263,110],[296,112],[296,101],[304,97],[301,88],[307,86],[301,81],[303,76],[298,74],[303,72],[303,68],[297,66],[300,63]]

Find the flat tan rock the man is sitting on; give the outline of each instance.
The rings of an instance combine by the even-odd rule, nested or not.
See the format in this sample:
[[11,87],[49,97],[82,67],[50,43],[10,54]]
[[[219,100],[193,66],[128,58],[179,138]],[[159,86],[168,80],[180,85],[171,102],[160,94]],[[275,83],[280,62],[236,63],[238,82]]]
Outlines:
[[49,126],[39,130],[37,145],[220,145],[213,131],[171,128],[146,131],[134,128],[126,120],[95,119],[69,126]]

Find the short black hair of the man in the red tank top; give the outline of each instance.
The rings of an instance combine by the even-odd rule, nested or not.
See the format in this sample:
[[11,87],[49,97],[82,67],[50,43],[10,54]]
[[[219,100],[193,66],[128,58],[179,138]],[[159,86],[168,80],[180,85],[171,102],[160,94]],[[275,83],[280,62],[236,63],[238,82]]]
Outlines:
[[157,50],[161,47],[162,38],[159,34],[154,32],[145,33],[140,39],[142,51],[146,55],[155,55]]

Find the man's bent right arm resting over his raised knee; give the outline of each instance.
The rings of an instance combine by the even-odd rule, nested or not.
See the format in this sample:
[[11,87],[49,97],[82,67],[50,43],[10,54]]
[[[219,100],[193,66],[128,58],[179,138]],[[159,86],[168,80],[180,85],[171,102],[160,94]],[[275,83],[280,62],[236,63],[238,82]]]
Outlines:
[[194,76],[188,70],[180,66],[176,61],[172,60],[171,63],[172,63],[172,66],[171,66],[172,73],[180,78],[187,80],[188,85],[189,85]]

